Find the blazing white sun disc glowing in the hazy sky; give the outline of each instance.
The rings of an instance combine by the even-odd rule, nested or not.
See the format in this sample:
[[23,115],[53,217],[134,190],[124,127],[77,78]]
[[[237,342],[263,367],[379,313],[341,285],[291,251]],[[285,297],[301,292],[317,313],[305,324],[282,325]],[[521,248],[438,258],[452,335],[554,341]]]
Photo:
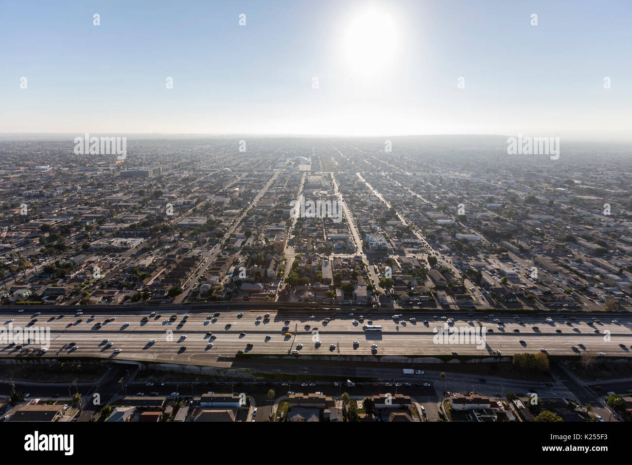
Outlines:
[[351,16],[344,33],[344,62],[358,73],[384,71],[392,63],[396,42],[392,16],[382,9],[365,9]]

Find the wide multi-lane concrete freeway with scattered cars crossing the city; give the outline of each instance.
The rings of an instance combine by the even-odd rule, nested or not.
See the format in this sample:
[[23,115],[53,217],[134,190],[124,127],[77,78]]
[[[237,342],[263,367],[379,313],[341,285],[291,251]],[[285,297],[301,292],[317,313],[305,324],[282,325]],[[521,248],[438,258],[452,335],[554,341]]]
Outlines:
[[[603,313],[599,314],[602,321],[598,322],[585,314],[553,314],[551,321],[545,321],[545,316],[538,314],[523,314],[516,319],[506,315],[502,316],[504,324],[499,328],[492,321],[495,317],[487,315],[451,312],[449,316],[454,318],[454,324],[448,325],[441,313],[415,313],[418,321],[411,321],[410,316],[393,318],[391,314],[367,309],[363,314],[364,323],[371,319],[374,325],[382,326],[382,332],[365,332],[358,321],[359,313],[332,315],[315,310],[310,314],[298,309],[283,313],[270,311],[269,321],[265,318],[259,321],[257,316],[264,316],[265,311],[216,310],[190,313],[188,318],[183,310],[157,309],[158,313],[153,315],[150,309],[135,313],[111,311],[113,313],[95,315],[94,319],[89,313],[35,315],[30,309],[23,313],[18,313],[17,309],[11,313],[3,311],[0,324],[5,339],[0,344],[0,356],[98,356],[225,366],[224,361],[228,357],[232,359],[238,350],[262,355],[286,355],[298,350],[300,358],[340,355],[362,356],[363,360],[370,360],[370,346],[376,344],[378,356],[432,356],[453,352],[462,356],[488,356],[497,350],[503,356],[509,356],[516,352],[546,349],[552,355],[589,353],[596,356],[598,352],[604,352],[607,356],[621,357],[631,354],[632,345],[632,316],[606,316]],[[216,313],[217,317],[214,316]],[[176,319],[169,321],[172,314]],[[314,318],[310,318],[312,315]],[[325,315],[332,316],[331,322],[323,321]],[[141,321],[143,316],[147,316],[148,321]],[[115,319],[106,321],[111,317]],[[33,326],[49,328],[50,348],[46,353],[37,352],[35,349],[39,346],[34,344],[27,346],[33,350],[22,351],[17,347],[19,341],[10,345],[11,340],[6,339],[17,328],[24,328],[32,318],[37,318]],[[101,323],[100,327],[95,325],[97,321]],[[286,321],[289,321],[289,336],[282,329]],[[473,340],[471,344],[465,344],[465,341],[453,338],[437,343],[437,327],[444,331],[447,327],[457,330],[482,327],[485,338],[478,344]],[[104,339],[112,344],[106,345]],[[252,347],[247,346],[249,343]],[[76,349],[71,348],[75,346]],[[114,349],[121,350],[115,352]]]

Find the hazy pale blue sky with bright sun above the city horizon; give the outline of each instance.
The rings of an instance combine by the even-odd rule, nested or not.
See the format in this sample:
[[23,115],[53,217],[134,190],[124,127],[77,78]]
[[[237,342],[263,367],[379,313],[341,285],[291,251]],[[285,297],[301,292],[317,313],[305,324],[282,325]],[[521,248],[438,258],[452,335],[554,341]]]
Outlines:
[[632,142],[631,13],[626,0],[0,0],[0,133]]

